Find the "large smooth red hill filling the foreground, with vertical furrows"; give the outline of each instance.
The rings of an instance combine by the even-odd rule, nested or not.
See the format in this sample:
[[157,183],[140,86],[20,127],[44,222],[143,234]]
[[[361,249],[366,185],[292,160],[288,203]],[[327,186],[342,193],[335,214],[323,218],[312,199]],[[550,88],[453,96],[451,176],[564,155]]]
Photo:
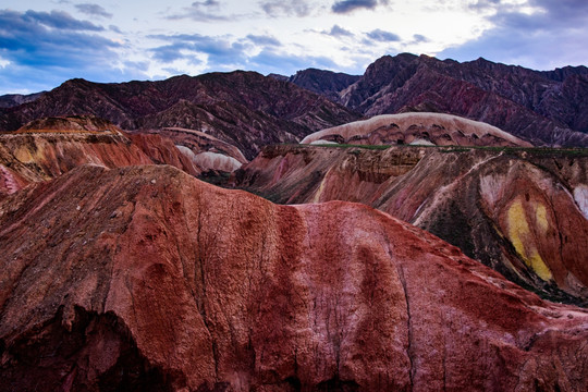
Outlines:
[[366,206],[84,166],[0,201],[0,228],[13,391],[588,387],[585,310]]

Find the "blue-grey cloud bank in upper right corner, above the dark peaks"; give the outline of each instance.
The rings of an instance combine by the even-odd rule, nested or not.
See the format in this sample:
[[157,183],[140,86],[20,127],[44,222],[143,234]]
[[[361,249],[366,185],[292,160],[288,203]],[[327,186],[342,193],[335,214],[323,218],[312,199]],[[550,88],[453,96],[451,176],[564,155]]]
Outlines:
[[528,14],[500,1],[478,1],[478,8],[493,8],[488,17],[493,27],[476,40],[450,48],[439,57],[489,60],[548,69],[553,63],[588,62],[581,37],[588,36],[588,2],[585,0],[529,0],[540,9]]

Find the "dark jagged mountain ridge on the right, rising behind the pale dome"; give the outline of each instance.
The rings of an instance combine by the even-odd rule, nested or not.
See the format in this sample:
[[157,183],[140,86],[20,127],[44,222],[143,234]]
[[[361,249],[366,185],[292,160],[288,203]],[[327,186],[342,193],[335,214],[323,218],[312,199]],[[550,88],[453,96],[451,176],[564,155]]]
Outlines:
[[[311,73],[299,72],[292,82],[297,84],[306,72]],[[331,89],[321,94],[333,99]],[[482,58],[460,63],[401,53],[378,59],[338,95],[338,102],[366,117],[452,113],[487,122],[536,145],[588,146],[586,66],[534,71]]]

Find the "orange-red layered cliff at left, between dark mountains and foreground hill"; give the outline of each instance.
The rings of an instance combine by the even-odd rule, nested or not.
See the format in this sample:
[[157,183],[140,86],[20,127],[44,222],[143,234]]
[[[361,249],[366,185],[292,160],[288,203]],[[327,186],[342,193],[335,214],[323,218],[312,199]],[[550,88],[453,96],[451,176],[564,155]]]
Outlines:
[[98,118],[47,118],[15,133],[0,134],[0,197],[84,163],[107,168],[172,164],[192,175],[200,173],[173,143],[159,135],[130,139],[119,127]]

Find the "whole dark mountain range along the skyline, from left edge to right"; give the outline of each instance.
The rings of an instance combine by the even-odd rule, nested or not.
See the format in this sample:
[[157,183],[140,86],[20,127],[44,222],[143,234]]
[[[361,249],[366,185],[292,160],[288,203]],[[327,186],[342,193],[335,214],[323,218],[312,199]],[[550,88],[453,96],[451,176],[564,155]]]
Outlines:
[[362,76],[308,69],[290,77],[236,71],[122,84],[71,79],[0,108],[0,130],[49,115],[94,114],[124,130],[208,132],[250,160],[260,146],[362,117],[426,111],[482,121],[534,145],[581,147],[588,146],[587,97],[586,66],[534,71],[481,58],[460,63],[402,53],[378,59]]

